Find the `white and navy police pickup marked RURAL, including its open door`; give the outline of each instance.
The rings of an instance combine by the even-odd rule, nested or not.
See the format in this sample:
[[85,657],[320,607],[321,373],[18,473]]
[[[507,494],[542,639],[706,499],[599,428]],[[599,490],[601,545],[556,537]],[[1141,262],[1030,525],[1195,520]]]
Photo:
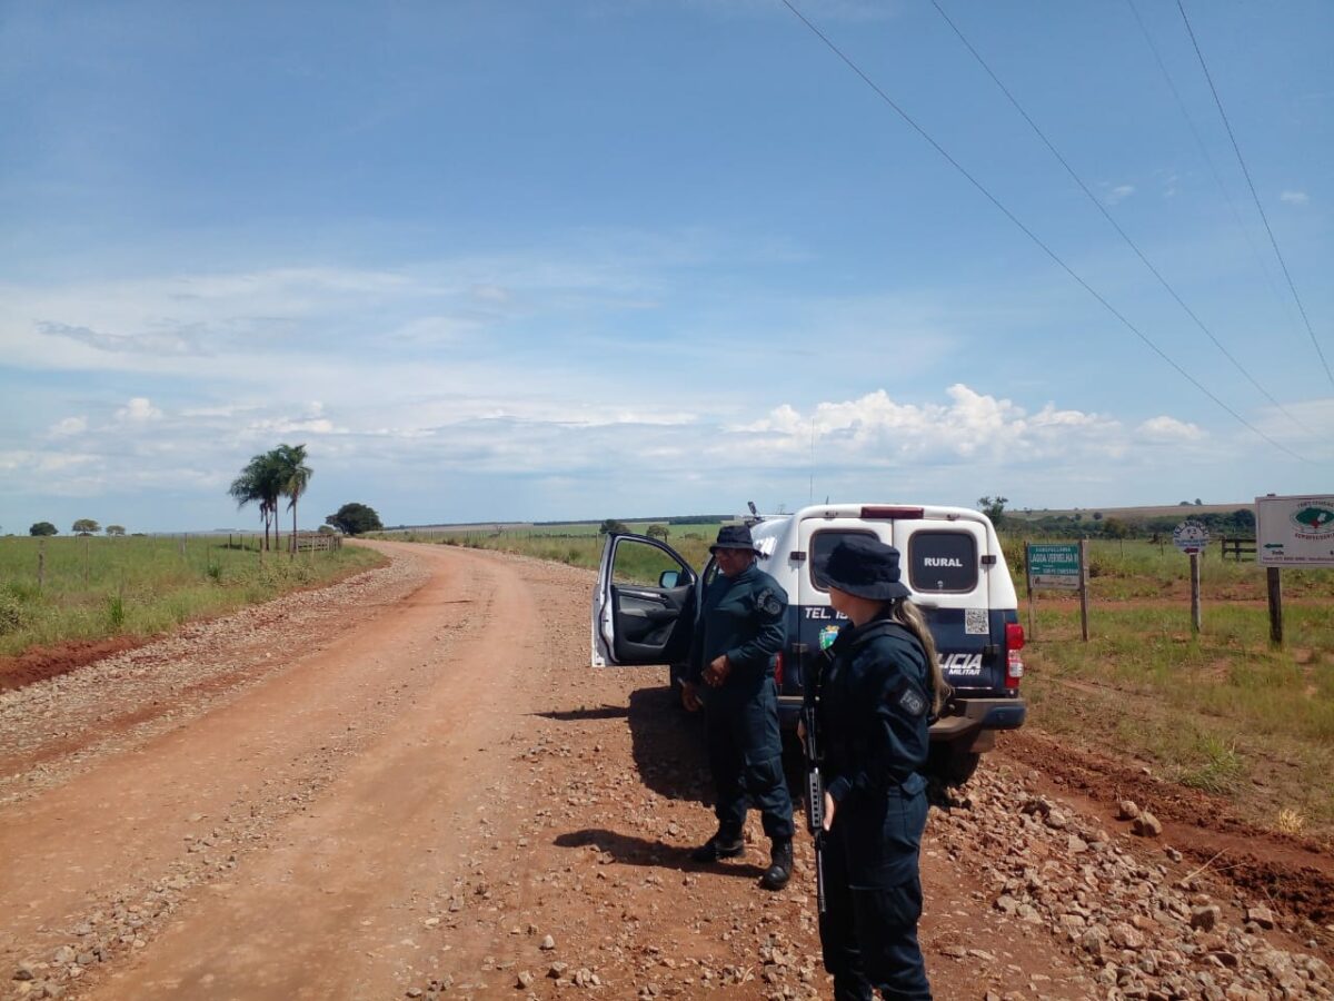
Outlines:
[[[962,507],[842,503],[750,519],[759,567],[788,597],[787,647],[774,673],[779,714],[796,727],[802,687],[815,658],[846,619],[830,607],[816,565],[850,535],[872,535],[898,547],[904,583],[926,615],[954,695],[931,726],[928,770],[962,785],[996,730],[1023,725],[1023,627],[1010,569],[990,519]],[[684,674],[704,585],[702,571],[666,542],[608,535],[592,599],[592,666],[670,665]]]

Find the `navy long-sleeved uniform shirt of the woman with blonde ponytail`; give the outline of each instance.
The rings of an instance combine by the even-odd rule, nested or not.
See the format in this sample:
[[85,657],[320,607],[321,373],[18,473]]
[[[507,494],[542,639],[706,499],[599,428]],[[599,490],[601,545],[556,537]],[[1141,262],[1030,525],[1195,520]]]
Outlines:
[[820,682],[820,731],[834,802],[915,794],[930,749],[931,686],[916,637],[886,619],[844,626]]

